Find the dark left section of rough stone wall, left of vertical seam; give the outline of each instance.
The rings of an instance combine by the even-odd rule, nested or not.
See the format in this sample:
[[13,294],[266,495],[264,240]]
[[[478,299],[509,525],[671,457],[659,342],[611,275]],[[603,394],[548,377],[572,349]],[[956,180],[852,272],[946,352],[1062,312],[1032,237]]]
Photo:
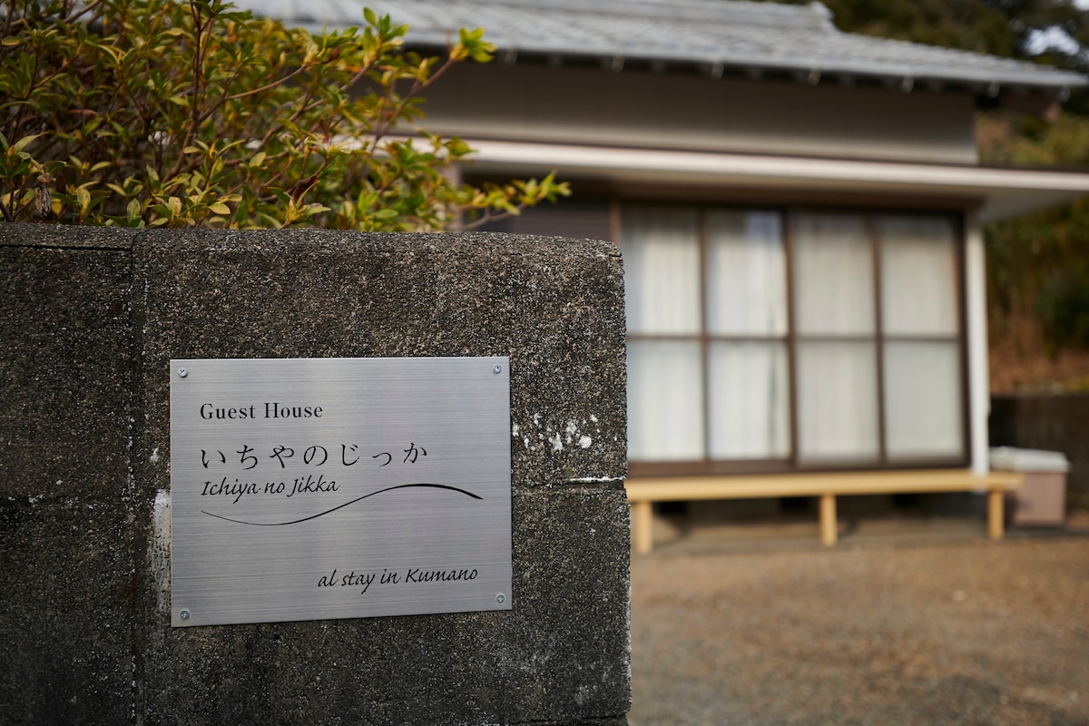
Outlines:
[[0,723],[131,719],[130,237],[0,224]]

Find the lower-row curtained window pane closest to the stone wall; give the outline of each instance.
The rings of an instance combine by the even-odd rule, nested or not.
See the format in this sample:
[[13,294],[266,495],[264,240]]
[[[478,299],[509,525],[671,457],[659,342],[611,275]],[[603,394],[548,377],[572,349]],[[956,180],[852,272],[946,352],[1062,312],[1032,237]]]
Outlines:
[[699,343],[627,344],[627,451],[634,460],[703,457]]

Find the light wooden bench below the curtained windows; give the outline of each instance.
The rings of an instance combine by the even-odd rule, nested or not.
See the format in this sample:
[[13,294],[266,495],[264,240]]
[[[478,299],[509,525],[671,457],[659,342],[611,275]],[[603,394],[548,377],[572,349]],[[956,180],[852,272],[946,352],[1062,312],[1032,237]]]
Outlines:
[[745,500],[780,496],[820,497],[821,542],[839,539],[836,495],[926,494],[930,492],[987,492],[987,531],[1002,539],[1003,497],[1021,485],[1023,475],[1012,471],[972,473],[968,469],[919,471],[865,471],[849,473],[792,473],[745,477],[661,477],[624,482],[632,505],[632,540],[638,553],[653,549],[654,502]]

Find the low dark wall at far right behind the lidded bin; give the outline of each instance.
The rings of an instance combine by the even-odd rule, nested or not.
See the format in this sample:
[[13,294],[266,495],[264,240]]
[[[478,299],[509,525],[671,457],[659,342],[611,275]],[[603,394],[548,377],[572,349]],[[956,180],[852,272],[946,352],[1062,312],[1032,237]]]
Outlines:
[[1089,509],[1089,394],[1056,393],[991,398],[992,446],[1062,452],[1069,459],[1066,508]]

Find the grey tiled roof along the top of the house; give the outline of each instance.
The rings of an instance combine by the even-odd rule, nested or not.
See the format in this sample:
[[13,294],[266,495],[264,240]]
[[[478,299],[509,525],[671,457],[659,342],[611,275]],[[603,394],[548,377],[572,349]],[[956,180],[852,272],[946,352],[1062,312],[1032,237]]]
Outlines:
[[819,2],[734,0],[233,0],[315,30],[359,24],[366,4],[409,25],[414,46],[484,27],[499,57],[723,73],[790,73],[815,83],[876,79],[910,88],[970,85],[1060,90],[1086,85],[1068,71],[918,44],[841,33]]

